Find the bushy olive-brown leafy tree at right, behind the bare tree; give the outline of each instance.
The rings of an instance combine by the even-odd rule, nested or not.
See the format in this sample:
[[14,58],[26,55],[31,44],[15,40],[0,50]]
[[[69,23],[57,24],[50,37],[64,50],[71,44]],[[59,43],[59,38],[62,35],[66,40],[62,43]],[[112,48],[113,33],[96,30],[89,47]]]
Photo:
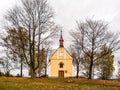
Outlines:
[[111,49],[108,50],[107,46],[103,45],[98,57],[107,51],[109,51],[109,53],[99,58],[95,63],[101,79],[109,79],[114,71],[114,55],[112,54]]

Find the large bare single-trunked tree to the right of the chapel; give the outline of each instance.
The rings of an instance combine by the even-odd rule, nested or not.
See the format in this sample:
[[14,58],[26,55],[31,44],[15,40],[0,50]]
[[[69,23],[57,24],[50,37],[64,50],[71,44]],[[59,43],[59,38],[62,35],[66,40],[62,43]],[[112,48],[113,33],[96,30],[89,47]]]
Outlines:
[[77,29],[74,32],[76,35],[73,36],[73,39],[80,41],[79,45],[80,48],[82,47],[82,52],[90,58],[88,78],[91,79],[94,63],[98,58],[109,53],[109,51],[107,51],[102,53],[99,57],[96,57],[96,52],[105,44],[108,50],[116,51],[120,49],[119,36],[108,30],[108,24],[92,19],[86,19],[85,22],[77,21]]

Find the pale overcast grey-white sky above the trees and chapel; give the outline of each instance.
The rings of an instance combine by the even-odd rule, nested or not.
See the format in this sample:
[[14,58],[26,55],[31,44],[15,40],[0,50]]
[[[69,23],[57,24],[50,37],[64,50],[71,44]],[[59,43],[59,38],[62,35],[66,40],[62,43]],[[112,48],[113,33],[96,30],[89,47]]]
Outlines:
[[[0,0],[0,29],[2,17],[6,10],[19,4],[20,0]],[[105,20],[109,23],[110,30],[120,31],[120,0],[48,0],[55,11],[54,20],[63,27],[65,43],[69,43],[68,33],[75,29],[76,20],[87,17]],[[119,59],[119,55],[116,56]]]

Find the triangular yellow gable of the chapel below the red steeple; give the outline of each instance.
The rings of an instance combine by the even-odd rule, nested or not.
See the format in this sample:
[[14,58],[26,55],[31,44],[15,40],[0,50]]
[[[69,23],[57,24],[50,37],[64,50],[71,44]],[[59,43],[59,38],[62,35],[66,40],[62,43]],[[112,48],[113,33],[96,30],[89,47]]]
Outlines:
[[55,53],[51,56],[50,60],[72,60],[73,58],[69,54],[69,52],[64,48],[58,48]]

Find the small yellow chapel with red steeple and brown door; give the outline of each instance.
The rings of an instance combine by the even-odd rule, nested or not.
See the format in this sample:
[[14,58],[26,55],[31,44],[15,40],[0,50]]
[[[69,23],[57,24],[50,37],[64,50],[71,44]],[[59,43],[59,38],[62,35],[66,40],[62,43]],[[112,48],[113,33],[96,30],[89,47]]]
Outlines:
[[50,77],[72,77],[73,58],[64,47],[62,31],[59,39],[59,48],[50,57]]

